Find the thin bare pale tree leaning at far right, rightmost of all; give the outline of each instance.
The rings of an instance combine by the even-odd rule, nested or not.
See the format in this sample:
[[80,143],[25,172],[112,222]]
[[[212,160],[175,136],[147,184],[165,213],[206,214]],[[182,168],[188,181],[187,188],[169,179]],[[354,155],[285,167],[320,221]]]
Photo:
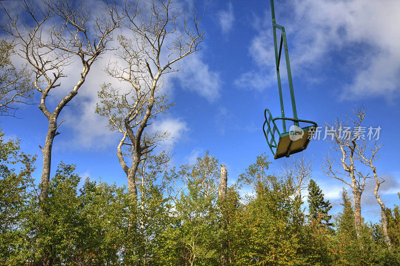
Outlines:
[[[375,179],[375,189],[373,190],[373,194],[375,196],[375,199],[377,203],[380,206],[380,217],[382,221],[382,230],[383,230],[383,235],[384,239],[386,242],[387,247],[390,249],[391,248],[391,242],[389,238],[389,234],[387,233],[387,217],[386,217],[386,207],[384,206],[384,203],[380,199],[380,196],[378,194],[379,186],[384,182],[384,179],[381,177],[378,177],[376,173],[376,166],[374,165],[374,161],[379,159],[379,155],[377,154],[379,149],[382,147],[382,145],[378,145],[376,142],[374,144],[374,147],[372,149],[368,149],[368,143],[365,139],[361,140],[361,143],[357,145],[355,153],[357,154],[359,160],[361,163],[363,163],[365,166],[369,167],[372,171],[373,178]],[[370,151],[370,155],[367,155],[367,151]]]

